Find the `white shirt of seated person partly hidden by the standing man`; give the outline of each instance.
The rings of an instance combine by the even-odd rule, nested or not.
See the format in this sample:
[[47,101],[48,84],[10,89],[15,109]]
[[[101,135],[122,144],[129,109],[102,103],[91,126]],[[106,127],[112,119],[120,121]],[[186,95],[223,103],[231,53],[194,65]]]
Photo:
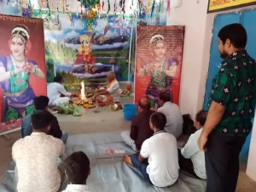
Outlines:
[[201,131],[202,128],[190,135],[188,143],[181,150],[181,154],[193,162],[195,174],[199,178],[207,179],[205,152],[201,151],[197,144]]

